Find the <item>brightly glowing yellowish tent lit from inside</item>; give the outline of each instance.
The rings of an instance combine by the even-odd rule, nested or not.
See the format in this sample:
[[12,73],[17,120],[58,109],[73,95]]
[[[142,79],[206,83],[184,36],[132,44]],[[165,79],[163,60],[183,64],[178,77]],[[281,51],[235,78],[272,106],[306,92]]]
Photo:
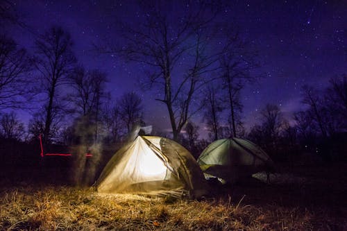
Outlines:
[[111,158],[96,182],[101,193],[199,197],[205,179],[194,157],[163,137],[139,136]]

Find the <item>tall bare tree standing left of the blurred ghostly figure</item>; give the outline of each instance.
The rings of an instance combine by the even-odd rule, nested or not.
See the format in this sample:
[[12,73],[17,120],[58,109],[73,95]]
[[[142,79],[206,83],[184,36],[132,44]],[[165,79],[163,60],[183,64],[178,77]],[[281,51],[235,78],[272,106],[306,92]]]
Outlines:
[[42,89],[37,89],[46,95],[46,110],[44,120],[44,142],[51,137],[51,126],[56,119],[54,110],[61,110],[58,100],[58,87],[67,83],[76,63],[71,50],[72,41],[69,33],[61,27],[54,26],[35,41],[37,61],[35,66],[40,72]]

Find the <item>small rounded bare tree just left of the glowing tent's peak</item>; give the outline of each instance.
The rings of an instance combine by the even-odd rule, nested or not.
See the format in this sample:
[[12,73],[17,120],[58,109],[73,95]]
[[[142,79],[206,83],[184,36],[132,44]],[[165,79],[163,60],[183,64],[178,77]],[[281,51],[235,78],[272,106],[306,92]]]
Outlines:
[[133,126],[141,123],[143,119],[142,99],[135,92],[123,94],[117,101],[121,120],[124,121],[128,133],[131,132]]

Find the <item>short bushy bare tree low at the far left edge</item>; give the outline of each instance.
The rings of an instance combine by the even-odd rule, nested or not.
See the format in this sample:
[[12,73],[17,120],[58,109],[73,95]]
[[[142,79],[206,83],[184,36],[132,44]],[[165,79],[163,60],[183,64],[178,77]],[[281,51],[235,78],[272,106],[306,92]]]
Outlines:
[[5,113],[0,119],[0,135],[5,139],[22,139],[25,130],[24,123],[17,119],[15,112]]

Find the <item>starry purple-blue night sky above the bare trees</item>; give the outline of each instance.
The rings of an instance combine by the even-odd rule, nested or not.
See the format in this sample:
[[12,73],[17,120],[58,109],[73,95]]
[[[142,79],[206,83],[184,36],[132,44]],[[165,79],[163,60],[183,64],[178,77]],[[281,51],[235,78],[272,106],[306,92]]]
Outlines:
[[[31,28],[14,27],[10,35],[33,53],[34,35],[53,24],[71,33],[74,51],[87,69],[108,73],[113,99],[128,91],[143,97],[145,121],[170,128],[167,108],[155,94],[137,85],[142,69],[115,55],[97,55],[92,44],[117,42],[117,19],[130,24],[144,17],[135,1],[14,1],[22,21]],[[171,12],[180,6],[171,4]],[[242,35],[257,46],[261,70],[266,78],[242,92],[247,127],[257,121],[259,111],[272,103],[287,117],[301,110],[300,89],[304,84],[323,89],[336,74],[347,73],[346,1],[232,1],[219,17],[237,22]],[[24,116],[23,116],[24,117]],[[197,122],[200,123],[199,119]]]

